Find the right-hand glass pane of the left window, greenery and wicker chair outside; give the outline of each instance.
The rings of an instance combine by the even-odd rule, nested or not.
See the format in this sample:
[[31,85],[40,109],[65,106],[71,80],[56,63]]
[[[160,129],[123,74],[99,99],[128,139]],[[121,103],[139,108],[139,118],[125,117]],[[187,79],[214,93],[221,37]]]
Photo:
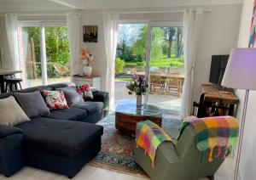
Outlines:
[[48,84],[70,82],[67,27],[47,26],[44,31]]

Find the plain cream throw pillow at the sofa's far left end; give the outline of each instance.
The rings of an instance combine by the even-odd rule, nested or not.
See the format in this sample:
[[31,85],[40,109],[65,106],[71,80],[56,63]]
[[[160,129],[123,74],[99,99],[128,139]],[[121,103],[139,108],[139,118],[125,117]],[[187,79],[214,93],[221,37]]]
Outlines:
[[0,124],[15,126],[30,121],[13,96],[0,99]]

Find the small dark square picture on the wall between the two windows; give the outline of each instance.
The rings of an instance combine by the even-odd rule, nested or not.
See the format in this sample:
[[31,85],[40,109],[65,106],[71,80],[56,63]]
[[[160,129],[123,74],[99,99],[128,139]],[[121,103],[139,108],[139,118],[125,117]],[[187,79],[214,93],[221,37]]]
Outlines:
[[98,26],[83,25],[84,42],[98,42]]

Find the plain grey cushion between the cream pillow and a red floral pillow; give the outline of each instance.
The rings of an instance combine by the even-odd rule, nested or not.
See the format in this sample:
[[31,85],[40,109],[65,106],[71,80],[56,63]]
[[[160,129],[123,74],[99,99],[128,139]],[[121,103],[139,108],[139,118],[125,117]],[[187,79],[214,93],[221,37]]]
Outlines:
[[44,102],[44,98],[40,91],[32,93],[15,93],[22,110],[30,118],[42,115],[49,115],[49,109]]

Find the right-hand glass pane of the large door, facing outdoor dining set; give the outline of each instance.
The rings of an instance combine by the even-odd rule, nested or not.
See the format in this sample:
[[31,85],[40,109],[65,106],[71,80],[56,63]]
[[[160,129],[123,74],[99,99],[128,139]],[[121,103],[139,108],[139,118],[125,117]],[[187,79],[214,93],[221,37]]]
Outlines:
[[148,103],[179,113],[183,86],[183,27],[152,27]]

